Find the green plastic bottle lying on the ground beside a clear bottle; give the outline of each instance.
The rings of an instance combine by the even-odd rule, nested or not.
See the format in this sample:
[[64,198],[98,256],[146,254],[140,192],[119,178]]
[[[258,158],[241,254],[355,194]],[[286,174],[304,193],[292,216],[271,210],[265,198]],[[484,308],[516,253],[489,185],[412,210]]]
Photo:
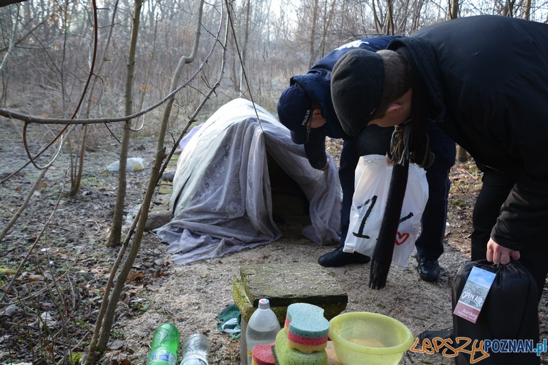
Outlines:
[[179,347],[179,330],[170,323],[160,325],[152,335],[147,365],[177,364],[177,348]]

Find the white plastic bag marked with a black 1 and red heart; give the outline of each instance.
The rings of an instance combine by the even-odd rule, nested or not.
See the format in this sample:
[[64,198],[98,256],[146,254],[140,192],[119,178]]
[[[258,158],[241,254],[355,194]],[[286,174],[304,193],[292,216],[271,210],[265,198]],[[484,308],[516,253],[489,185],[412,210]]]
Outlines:
[[[345,240],[345,252],[371,256],[379,236],[388,197],[392,166],[382,155],[362,156],[356,167],[355,191],[350,210],[350,225]],[[392,263],[406,267],[416,241],[421,217],[428,200],[426,171],[409,165],[406,197],[395,237]]]

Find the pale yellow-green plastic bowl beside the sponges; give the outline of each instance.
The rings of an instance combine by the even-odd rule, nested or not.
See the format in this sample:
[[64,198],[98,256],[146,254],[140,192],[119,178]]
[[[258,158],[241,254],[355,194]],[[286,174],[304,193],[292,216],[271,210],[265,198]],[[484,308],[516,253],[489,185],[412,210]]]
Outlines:
[[335,316],[329,321],[329,338],[344,365],[396,365],[414,343],[399,320],[370,312]]

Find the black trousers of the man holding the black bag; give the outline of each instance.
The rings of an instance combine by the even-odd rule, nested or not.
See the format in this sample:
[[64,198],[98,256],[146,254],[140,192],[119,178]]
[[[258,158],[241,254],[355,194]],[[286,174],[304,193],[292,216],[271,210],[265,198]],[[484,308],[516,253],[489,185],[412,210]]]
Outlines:
[[[515,183],[513,175],[492,168],[482,167],[482,171],[482,190],[479,191],[472,216],[472,261],[486,258],[491,230],[497,223],[501,205],[506,201]],[[543,237],[532,238],[531,242],[523,245],[519,253],[519,262],[530,271],[536,281],[540,301],[548,275],[548,244]]]

